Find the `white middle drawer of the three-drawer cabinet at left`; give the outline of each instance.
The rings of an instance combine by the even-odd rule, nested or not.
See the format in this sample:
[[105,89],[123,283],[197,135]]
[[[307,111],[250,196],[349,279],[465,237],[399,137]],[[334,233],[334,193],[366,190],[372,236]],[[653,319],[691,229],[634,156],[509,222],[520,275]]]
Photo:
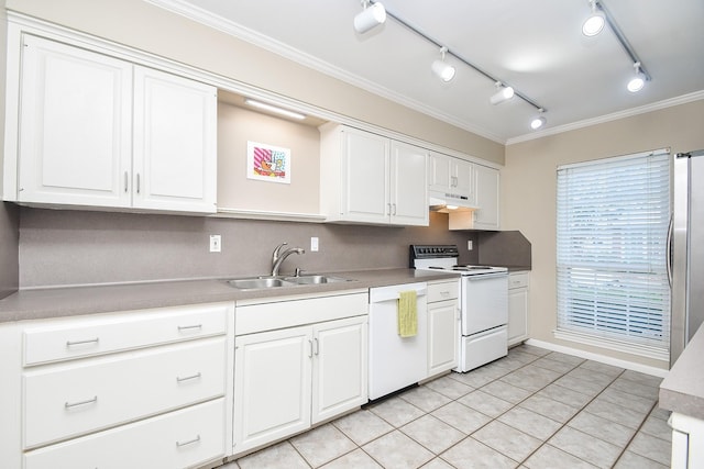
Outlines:
[[224,337],[25,371],[24,447],[221,397],[224,379]]

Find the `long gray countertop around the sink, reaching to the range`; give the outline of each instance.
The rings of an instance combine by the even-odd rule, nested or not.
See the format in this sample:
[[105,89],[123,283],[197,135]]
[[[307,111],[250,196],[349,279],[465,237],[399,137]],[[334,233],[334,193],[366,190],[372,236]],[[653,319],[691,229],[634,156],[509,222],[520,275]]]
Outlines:
[[350,281],[240,290],[230,287],[226,282],[228,279],[213,278],[20,290],[0,300],[0,323],[220,301],[344,292],[457,278],[452,272],[414,269],[321,273],[343,277]]

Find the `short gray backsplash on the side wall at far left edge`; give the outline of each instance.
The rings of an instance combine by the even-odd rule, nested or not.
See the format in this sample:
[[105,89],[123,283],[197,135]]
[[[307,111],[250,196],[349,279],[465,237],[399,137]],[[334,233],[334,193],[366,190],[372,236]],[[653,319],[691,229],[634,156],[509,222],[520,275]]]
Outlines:
[[15,292],[20,284],[19,236],[20,209],[0,202],[0,299]]

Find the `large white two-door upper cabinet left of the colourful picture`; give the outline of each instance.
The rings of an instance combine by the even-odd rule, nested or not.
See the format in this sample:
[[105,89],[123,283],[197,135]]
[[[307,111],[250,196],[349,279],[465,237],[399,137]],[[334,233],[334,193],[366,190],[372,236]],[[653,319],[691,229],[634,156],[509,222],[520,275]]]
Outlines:
[[216,211],[215,87],[29,34],[20,56],[6,200]]

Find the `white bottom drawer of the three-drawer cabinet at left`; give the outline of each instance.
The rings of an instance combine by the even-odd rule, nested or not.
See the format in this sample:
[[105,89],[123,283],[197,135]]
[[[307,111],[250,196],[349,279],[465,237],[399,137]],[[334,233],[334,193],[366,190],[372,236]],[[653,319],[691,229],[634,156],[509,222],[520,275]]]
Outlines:
[[25,469],[187,468],[224,457],[224,399],[29,451]]

